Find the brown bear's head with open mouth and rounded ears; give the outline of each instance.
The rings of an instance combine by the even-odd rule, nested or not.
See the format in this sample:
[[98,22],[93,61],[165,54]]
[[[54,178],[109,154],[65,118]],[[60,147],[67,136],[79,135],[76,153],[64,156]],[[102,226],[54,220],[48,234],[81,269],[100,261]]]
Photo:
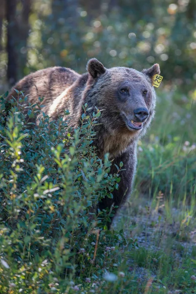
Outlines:
[[142,72],[127,67],[106,69],[92,58],[87,63],[87,72],[84,99],[88,106],[102,110],[99,123],[104,134],[124,135],[122,140],[126,138],[127,145],[145,134],[154,116],[156,96],[152,77],[160,73],[159,65]]

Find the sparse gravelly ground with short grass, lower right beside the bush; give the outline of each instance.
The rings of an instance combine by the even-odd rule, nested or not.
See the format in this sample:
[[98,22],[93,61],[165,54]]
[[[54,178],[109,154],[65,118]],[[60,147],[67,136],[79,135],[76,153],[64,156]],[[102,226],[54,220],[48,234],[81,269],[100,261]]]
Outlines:
[[169,207],[162,196],[132,198],[121,209],[114,227],[137,239],[129,270],[138,293],[196,293],[196,219],[190,210]]

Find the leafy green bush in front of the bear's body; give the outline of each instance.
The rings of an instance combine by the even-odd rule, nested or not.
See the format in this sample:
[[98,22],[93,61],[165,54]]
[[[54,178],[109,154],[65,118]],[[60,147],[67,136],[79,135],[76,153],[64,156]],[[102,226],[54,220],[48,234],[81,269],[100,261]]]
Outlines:
[[135,245],[123,231],[107,230],[112,212],[96,212],[101,198],[112,197],[120,168],[111,175],[108,156],[96,156],[99,111],[90,119],[85,105],[75,130],[45,115],[32,128],[41,108],[24,102],[13,101],[6,122],[0,98],[0,293],[71,291],[74,276],[85,281],[119,262],[116,245]]

